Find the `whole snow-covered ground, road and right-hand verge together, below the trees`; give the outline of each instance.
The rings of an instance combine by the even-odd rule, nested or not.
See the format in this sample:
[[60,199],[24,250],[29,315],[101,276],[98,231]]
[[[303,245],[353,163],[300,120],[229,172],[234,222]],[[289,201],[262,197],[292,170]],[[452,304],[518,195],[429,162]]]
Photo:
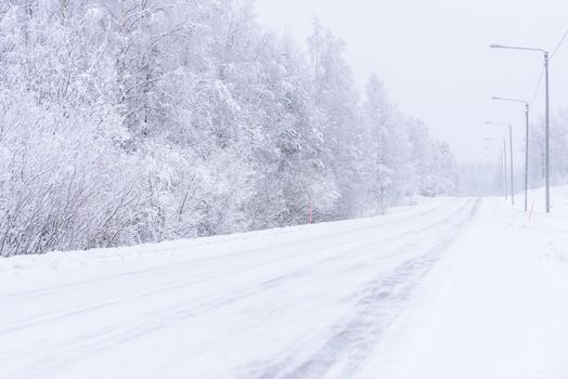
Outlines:
[[566,378],[554,195],[0,260],[0,378]]

